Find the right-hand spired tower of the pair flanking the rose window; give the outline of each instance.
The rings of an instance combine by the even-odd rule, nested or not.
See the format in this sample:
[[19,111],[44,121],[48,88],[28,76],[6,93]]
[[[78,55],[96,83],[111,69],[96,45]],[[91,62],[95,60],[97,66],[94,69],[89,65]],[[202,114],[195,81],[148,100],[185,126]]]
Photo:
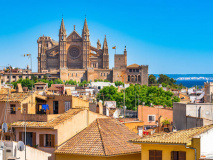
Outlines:
[[83,68],[87,69],[90,67],[89,54],[90,54],[90,40],[89,40],[89,29],[87,26],[87,19],[84,21],[84,28],[82,30],[83,40]]

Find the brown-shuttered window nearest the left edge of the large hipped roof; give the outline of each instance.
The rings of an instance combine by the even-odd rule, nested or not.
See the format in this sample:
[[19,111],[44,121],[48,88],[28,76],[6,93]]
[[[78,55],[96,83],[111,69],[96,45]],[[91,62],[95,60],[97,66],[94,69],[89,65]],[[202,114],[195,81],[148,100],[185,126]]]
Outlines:
[[55,146],[55,135],[40,134],[39,135],[39,146],[40,147],[54,147]]

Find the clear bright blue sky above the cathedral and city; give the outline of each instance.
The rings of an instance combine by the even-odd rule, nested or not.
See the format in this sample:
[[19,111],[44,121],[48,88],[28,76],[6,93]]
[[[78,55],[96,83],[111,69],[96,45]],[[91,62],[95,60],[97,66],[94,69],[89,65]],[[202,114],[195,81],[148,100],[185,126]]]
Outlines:
[[212,8],[211,0],[0,0],[0,68],[24,68],[31,53],[37,71],[38,37],[58,40],[62,14],[67,34],[73,25],[81,34],[86,14],[91,44],[107,36],[110,68],[112,46],[122,53],[126,45],[128,64],[149,65],[149,73],[212,73]]

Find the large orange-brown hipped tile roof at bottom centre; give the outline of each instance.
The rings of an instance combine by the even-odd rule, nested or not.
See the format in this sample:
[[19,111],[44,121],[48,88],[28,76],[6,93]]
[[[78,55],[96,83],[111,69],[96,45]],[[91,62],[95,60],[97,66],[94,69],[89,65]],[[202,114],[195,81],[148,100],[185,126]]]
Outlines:
[[128,142],[133,138],[139,138],[139,136],[119,121],[113,118],[99,118],[59,146],[55,153],[91,156],[140,153],[139,145]]

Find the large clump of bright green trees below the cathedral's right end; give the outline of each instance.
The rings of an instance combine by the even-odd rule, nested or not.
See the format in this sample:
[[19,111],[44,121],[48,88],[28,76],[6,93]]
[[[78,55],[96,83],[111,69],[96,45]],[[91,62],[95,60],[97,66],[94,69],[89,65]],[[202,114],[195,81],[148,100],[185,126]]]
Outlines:
[[[123,105],[124,101],[124,90],[121,92],[117,91],[116,87],[104,87],[97,95],[97,99],[116,101],[118,106]],[[125,89],[125,105],[128,109],[136,110],[138,104],[145,102],[145,105],[163,105],[172,107],[173,102],[179,102],[180,99],[173,96],[170,91],[164,91],[162,88],[157,86],[146,86],[146,85],[133,85],[131,84]]]

